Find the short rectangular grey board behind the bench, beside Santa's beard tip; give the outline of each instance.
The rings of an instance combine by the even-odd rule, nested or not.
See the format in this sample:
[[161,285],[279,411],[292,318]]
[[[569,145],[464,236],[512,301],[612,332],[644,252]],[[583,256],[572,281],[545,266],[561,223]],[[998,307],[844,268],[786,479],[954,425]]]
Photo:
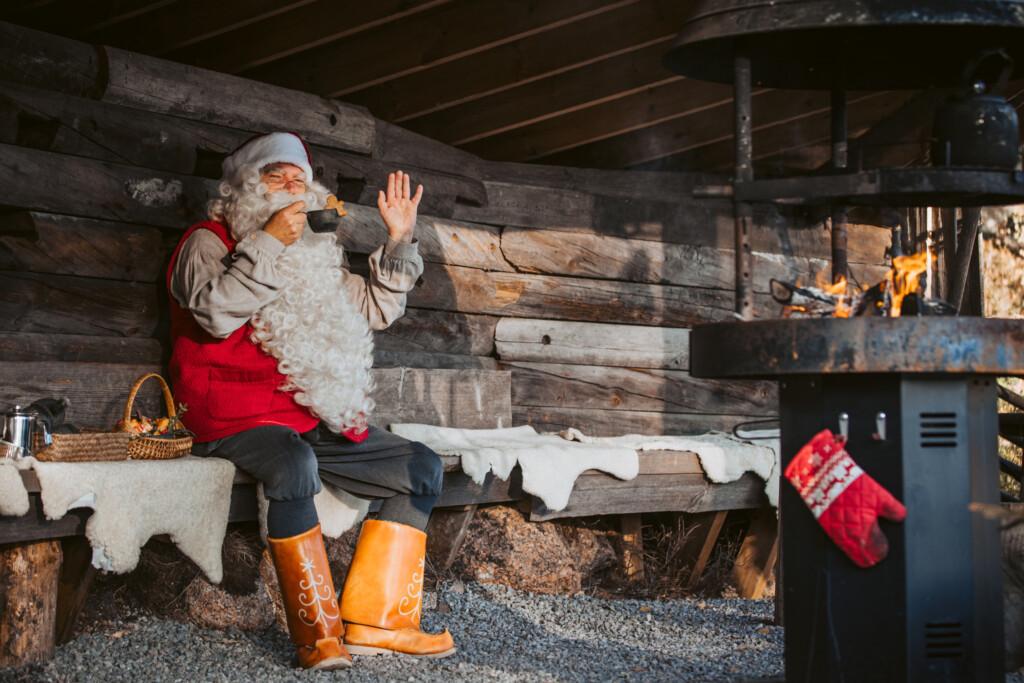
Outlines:
[[374,371],[371,422],[422,422],[450,427],[508,427],[512,424],[507,372],[487,370]]

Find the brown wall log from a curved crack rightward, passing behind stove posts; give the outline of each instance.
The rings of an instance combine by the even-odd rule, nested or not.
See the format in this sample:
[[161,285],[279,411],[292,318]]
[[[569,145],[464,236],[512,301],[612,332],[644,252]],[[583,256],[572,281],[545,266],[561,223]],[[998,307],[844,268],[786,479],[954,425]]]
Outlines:
[[[735,282],[735,253],[731,249],[626,240],[592,232],[537,230],[517,227],[502,232],[502,252],[518,270],[580,278],[625,280],[634,283],[719,287]],[[872,263],[881,263],[879,253]],[[825,259],[754,253],[754,285],[769,292],[769,280],[814,283],[824,273]],[[874,283],[885,276],[882,266],[857,268],[858,280]]]

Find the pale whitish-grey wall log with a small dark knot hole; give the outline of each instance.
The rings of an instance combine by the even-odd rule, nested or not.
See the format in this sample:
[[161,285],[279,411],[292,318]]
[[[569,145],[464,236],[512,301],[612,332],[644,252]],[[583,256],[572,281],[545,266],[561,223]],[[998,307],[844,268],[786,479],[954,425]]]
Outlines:
[[689,370],[689,330],[503,317],[495,328],[502,360]]

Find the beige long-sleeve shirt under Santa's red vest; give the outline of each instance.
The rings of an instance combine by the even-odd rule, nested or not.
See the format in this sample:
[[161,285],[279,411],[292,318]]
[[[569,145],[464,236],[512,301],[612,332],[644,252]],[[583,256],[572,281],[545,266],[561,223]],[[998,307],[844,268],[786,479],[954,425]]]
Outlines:
[[[273,301],[285,283],[275,268],[285,245],[257,230],[228,253],[210,230],[196,230],[181,246],[171,295],[191,311],[196,322],[214,337],[224,339],[245,325],[253,313]],[[406,311],[406,294],[423,274],[416,243],[388,240],[370,255],[370,276],[343,267],[342,286],[372,330],[383,330]]]

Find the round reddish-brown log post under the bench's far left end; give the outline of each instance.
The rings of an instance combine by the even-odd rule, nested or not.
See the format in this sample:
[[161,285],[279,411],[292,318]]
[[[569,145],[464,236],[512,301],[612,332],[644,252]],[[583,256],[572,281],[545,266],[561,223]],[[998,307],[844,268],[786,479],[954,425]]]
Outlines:
[[60,542],[0,548],[0,667],[53,656]]

